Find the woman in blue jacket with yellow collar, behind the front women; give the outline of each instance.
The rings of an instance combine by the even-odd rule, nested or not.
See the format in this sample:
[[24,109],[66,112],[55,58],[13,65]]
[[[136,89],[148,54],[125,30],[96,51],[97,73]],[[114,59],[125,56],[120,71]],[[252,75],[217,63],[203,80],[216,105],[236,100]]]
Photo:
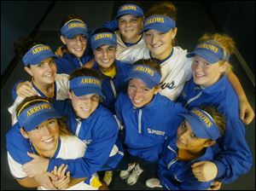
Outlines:
[[131,65],[115,60],[116,36],[110,29],[97,29],[91,34],[90,43],[96,60],[94,68],[102,77],[103,103],[114,113],[116,97],[127,90],[125,78],[128,78]]

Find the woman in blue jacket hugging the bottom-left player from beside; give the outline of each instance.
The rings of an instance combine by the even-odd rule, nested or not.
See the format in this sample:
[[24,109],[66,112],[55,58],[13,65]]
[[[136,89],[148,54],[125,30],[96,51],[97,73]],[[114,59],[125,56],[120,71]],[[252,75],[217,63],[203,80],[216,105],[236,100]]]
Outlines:
[[38,157],[24,165],[27,173],[36,175],[41,171],[52,171],[55,165],[65,164],[73,177],[90,177],[96,171],[114,169],[122,159],[122,147],[116,142],[118,124],[113,114],[100,103],[104,96],[97,72],[87,68],[75,70],[70,77],[69,97],[71,101],[55,101],[54,106],[67,117],[67,126],[73,134],[85,143],[84,156],[47,161]]

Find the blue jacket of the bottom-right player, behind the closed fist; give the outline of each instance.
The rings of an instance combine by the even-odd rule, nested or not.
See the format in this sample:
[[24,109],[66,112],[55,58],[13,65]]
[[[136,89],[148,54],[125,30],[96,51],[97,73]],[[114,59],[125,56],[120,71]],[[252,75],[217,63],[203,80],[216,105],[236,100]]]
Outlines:
[[191,161],[177,159],[176,136],[169,137],[159,161],[158,177],[161,185],[169,190],[206,190],[213,181],[200,182],[194,176],[191,165],[202,160],[212,160],[212,147],[199,158]]

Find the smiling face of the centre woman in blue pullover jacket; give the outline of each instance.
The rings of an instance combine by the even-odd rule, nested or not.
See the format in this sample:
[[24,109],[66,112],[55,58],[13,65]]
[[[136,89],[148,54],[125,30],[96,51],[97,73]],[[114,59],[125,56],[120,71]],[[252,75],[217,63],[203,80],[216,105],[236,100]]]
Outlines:
[[128,96],[134,107],[147,105],[157,92],[158,90],[155,87],[149,89],[139,78],[132,78],[128,84]]

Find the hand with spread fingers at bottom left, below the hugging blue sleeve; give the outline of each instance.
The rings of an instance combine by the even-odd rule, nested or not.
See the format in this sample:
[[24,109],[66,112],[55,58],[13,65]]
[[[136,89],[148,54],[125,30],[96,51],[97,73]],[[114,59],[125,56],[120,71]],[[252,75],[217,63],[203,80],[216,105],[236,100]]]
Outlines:
[[68,187],[68,184],[70,182],[70,171],[67,171],[67,174],[65,176],[65,172],[67,171],[67,165],[62,164],[59,168],[55,166],[52,173],[58,177],[58,180],[52,181],[52,183],[55,185],[55,188],[58,189],[65,189]]

